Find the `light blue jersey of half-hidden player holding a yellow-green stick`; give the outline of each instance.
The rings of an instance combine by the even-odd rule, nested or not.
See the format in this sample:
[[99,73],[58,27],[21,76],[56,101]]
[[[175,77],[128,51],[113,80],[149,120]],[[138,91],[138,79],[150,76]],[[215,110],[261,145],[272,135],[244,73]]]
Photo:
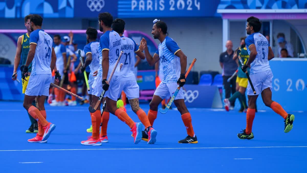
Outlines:
[[93,78],[93,74],[96,70],[98,70],[99,65],[99,42],[90,42],[87,45],[84,46],[84,53],[85,56],[87,54],[92,54],[92,62],[90,63],[90,75],[89,78]]

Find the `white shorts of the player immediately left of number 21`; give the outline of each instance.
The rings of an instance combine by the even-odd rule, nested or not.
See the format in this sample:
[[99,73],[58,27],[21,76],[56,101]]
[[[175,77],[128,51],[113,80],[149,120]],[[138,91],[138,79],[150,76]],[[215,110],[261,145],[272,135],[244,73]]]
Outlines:
[[[109,75],[107,76],[109,78]],[[100,97],[102,93],[102,76],[96,76],[95,81],[92,85],[92,95]],[[111,82],[109,83],[110,87],[108,91],[104,94],[104,97],[108,97],[114,101],[118,99],[119,87],[120,87],[120,76],[113,76]]]

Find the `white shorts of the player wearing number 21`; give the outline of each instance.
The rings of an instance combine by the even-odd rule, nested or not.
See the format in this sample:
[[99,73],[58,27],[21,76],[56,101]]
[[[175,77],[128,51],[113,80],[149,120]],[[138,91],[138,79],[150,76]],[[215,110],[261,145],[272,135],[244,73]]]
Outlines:
[[136,99],[140,97],[140,87],[138,86],[136,80],[130,81],[120,81],[118,98],[121,94],[121,91],[124,91],[128,100]]

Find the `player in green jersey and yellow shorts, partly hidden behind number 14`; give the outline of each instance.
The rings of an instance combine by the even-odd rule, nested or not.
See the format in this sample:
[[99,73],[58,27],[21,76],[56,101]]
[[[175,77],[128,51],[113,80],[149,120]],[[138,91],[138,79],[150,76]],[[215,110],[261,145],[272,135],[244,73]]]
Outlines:
[[[16,55],[14,59],[14,72],[17,72],[17,68],[19,65],[25,65],[25,62],[27,60],[28,52],[30,49],[30,33],[31,33],[31,24],[30,24],[30,18],[31,14],[25,16],[25,27],[27,29],[27,33],[21,35],[18,38],[17,41],[17,50],[16,50]],[[29,72],[32,70],[32,63],[29,65]],[[17,74],[12,77],[13,80],[16,80]],[[27,80],[22,79],[22,93],[25,93],[25,89],[27,88],[28,81],[30,78],[30,74],[28,77],[26,77]],[[33,100],[32,105],[36,107],[35,100]],[[29,115],[29,114],[28,114]],[[28,130],[26,130],[26,133],[37,133],[38,132],[38,125],[37,125],[37,120],[32,118],[31,115],[29,115],[29,119],[31,121],[31,126],[29,127]]]

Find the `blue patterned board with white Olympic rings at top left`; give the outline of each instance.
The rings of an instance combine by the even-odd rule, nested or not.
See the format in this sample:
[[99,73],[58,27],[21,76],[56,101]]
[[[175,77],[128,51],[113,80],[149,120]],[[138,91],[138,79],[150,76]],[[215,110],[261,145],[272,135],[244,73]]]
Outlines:
[[10,0],[0,2],[0,18],[97,18],[101,12],[117,16],[117,0]]

